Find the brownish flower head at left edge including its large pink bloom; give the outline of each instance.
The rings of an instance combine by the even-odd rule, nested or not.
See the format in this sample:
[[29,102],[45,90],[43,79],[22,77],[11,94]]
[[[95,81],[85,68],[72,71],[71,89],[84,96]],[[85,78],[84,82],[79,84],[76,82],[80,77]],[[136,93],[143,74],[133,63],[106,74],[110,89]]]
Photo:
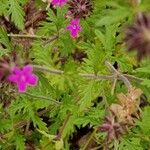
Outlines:
[[[4,91],[5,87],[7,86],[8,90],[5,91],[5,93],[8,93],[8,95],[16,92],[14,84],[11,84],[8,87],[8,81],[16,83],[19,92],[25,92],[28,85],[36,86],[37,84],[38,77],[32,74],[32,66],[26,65],[31,63],[30,58],[27,56],[22,59],[21,56],[22,55],[20,53],[13,51],[0,59],[0,82],[1,85],[3,85],[0,87],[0,90]],[[19,66],[23,66],[23,68],[21,69]],[[2,89],[2,87],[4,88]],[[0,99],[2,98],[0,97]]]

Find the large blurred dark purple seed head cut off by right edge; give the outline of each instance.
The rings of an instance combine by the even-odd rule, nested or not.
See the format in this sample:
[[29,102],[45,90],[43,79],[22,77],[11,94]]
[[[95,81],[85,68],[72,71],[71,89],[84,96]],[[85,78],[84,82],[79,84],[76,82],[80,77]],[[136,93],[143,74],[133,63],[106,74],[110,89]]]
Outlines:
[[137,50],[137,59],[150,55],[150,14],[139,13],[135,23],[126,31],[125,42],[129,51]]

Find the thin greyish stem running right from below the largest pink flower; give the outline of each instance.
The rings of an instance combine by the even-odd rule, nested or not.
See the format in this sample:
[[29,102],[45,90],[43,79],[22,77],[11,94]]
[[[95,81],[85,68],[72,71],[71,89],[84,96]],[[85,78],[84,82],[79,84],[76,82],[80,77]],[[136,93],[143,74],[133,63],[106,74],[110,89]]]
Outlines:
[[57,104],[57,105],[60,104],[60,102],[56,101],[55,99],[48,98],[48,97],[45,97],[45,96],[33,95],[33,94],[27,93],[27,92],[25,92],[24,94],[27,95],[27,96],[30,96],[30,97],[32,97],[32,98],[35,98],[35,99],[45,99],[45,100],[49,100],[49,101],[51,101],[51,102],[53,102],[53,103],[55,103],[55,104]]

